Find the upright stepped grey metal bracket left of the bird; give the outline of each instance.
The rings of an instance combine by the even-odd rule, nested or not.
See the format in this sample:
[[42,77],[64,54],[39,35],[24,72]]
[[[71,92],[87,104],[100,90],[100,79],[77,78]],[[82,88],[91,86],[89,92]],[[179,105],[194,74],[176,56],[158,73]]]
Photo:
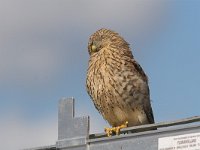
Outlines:
[[74,117],[74,101],[73,98],[62,98],[59,101],[57,148],[86,145],[89,116]]

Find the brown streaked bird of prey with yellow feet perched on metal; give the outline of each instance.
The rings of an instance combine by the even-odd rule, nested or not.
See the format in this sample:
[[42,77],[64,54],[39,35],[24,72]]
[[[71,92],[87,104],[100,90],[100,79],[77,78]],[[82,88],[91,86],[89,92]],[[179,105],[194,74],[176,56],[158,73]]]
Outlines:
[[113,127],[106,131],[108,136],[127,125],[154,123],[148,79],[129,44],[118,33],[103,28],[90,36],[88,52],[87,92]]

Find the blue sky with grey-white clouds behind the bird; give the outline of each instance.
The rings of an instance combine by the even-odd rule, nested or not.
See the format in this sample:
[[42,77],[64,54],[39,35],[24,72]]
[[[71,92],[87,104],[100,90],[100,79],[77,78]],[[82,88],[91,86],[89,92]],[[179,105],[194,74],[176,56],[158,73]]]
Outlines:
[[76,99],[91,133],[108,126],[85,90],[89,36],[119,32],[149,76],[156,122],[200,115],[200,2],[0,0],[0,145],[55,144],[57,104]]

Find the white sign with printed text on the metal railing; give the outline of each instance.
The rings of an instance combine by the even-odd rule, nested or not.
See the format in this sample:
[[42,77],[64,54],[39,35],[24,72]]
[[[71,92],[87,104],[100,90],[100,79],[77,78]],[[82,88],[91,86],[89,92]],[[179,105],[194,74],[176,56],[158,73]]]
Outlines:
[[200,133],[159,138],[158,150],[200,150]]

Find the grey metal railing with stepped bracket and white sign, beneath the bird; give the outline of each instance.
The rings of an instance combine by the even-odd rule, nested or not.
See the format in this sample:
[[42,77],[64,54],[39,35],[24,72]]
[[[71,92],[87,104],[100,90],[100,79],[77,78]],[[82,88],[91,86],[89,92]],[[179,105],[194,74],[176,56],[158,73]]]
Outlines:
[[[56,144],[27,150],[200,150],[200,116],[128,127],[120,135],[107,137],[105,133],[89,134],[89,116],[75,117],[74,101],[73,98],[59,101]],[[174,145],[163,143],[163,138]],[[193,143],[178,145],[186,138]]]

